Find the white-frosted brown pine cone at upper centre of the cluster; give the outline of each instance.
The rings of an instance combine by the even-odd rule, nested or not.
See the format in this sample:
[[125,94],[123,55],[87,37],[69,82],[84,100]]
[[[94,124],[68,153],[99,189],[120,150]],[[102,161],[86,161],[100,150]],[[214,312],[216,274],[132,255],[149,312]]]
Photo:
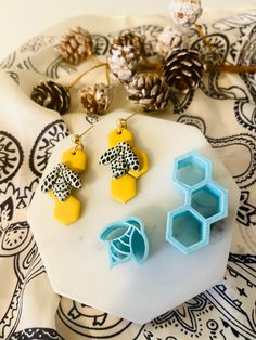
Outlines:
[[131,31],[117,36],[110,48],[107,61],[112,73],[121,81],[128,81],[143,55],[142,39]]

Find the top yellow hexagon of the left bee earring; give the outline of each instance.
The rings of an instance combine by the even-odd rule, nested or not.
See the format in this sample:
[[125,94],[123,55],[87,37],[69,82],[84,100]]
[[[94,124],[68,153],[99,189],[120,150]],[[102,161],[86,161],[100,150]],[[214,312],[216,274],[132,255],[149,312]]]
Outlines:
[[72,147],[62,155],[62,162],[71,170],[80,173],[86,170],[87,155],[82,149],[77,149],[74,154],[74,147]]

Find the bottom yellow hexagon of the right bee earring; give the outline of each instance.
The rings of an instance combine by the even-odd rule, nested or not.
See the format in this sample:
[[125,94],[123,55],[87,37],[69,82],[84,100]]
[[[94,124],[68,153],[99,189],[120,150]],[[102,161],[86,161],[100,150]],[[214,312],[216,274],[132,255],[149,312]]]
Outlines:
[[136,196],[136,179],[125,174],[119,179],[111,180],[111,196],[121,204],[133,198]]

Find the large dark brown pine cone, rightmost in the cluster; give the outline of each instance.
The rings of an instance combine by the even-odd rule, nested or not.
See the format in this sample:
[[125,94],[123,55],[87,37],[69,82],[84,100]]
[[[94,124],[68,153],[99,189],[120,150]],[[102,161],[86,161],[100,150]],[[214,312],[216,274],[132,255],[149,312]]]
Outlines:
[[196,88],[203,76],[204,64],[197,51],[187,49],[174,51],[165,61],[164,76],[176,92],[187,93]]

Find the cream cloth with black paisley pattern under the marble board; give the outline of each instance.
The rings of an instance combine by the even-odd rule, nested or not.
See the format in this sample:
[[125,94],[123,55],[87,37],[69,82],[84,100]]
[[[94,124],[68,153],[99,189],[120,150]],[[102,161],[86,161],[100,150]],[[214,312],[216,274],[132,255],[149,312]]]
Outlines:
[[[53,147],[68,134],[72,118],[65,123],[65,116],[61,118],[57,113],[39,107],[29,100],[29,93],[40,79],[56,80],[78,73],[79,67],[66,64],[53,51],[57,36],[66,28],[80,25],[92,31],[95,51],[103,58],[115,31],[107,31],[98,22],[92,24],[87,17],[67,21],[33,38],[1,63],[0,339],[253,340],[256,338],[255,74],[208,74],[194,93],[175,106],[175,115],[169,113],[164,117],[200,129],[241,189],[223,282],[142,326],[60,297],[50,286],[26,212]],[[113,23],[111,27],[115,26]],[[154,22],[130,19],[124,22],[124,28],[128,27],[127,23],[138,34],[146,35],[148,51],[152,53],[151,43],[168,22],[161,17]],[[119,21],[116,27],[120,28]],[[256,12],[203,25],[203,30],[222,62],[256,64]],[[194,49],[204,48],[194,32],[191,41]],[[78,101],[72,105],[72,112],[79,113]],[[86,116],[86,120],[90,125],[98,117]]]

